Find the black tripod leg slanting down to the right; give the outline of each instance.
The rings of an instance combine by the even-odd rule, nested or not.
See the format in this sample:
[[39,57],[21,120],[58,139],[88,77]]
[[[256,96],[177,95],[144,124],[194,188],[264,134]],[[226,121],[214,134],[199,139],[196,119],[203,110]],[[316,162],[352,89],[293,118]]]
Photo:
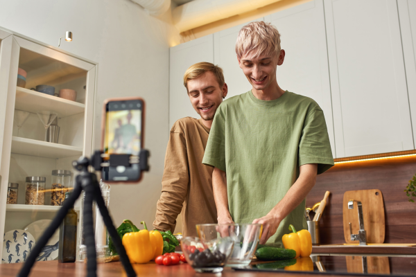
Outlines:
[[110,213],[108,212],[108,209],[105,206],[103,196],[101,195],[100,187],[98,186],[98,182],[96,182],[96,186],[94,186],[94,190],[95,190],[94,199],[96,201],[98,209],[100,210],[101,215],[103,216],[103,221],[104,221],[105,226],[107,226],[107,231],[110,234],[110,237],[112,238],[114,246],[116,247],[117,252],[120,255],[120,260],[125,269],[125,273],[127,274],[128,277],[136,277],[137,274],[135,272],[135,269],[133,269],[132,265],[130,264],[130,260],[128,259],[127,253],[125,253],[125,248],[123,247],[123,243],[121,242],[119,234],[117,233],[116,227],[114,227],[114,224],[110,217]]

